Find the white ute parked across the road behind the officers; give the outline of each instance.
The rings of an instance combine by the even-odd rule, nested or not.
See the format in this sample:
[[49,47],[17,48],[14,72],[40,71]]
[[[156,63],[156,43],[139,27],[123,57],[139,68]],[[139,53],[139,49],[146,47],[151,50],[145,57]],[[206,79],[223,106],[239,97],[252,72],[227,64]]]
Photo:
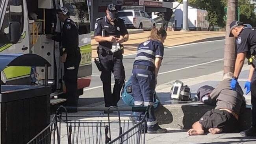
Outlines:
[[127,28],[152,29],[156,22],[145,11],[118,11],[119,18],[124,20]]

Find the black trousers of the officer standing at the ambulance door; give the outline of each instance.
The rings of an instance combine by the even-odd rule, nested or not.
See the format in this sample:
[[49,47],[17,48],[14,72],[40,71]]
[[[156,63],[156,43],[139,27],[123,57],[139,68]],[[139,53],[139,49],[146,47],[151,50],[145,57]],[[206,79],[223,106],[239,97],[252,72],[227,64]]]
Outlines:
[[64,63],[64,82],[66,86],[66,98],[65,106],[77,107],[78,105],[78,93],[77,93],[77,78],[78,68],[81,60],[81,54],[76,53],[76,58],[67,57]]

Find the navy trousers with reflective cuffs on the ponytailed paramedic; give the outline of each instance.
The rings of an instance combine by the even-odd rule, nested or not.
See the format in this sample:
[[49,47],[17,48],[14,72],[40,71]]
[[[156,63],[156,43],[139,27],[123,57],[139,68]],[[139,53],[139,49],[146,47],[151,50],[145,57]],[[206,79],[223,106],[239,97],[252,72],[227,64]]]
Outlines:
[[[132,92],[135,107],[153,105],[155,87],[155,74],[153,72],[143,69],[132,70]],[[153,131],[155,126],[158,126],[158,122],[152,106],[149,109],[149,118],[147,120],[148,130]]]

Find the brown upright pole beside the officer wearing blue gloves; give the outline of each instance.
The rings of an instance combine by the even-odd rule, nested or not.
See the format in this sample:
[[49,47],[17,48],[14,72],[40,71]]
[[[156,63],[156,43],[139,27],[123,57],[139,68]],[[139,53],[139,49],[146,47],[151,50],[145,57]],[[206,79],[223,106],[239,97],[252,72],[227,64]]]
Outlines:
[[229,37],[230,23],[236,19],[236,0],[228,0],[227,20],[226,20],[226,38],[224,47],[224,74],[234,72],[236,55],[235,55],[235,38]]

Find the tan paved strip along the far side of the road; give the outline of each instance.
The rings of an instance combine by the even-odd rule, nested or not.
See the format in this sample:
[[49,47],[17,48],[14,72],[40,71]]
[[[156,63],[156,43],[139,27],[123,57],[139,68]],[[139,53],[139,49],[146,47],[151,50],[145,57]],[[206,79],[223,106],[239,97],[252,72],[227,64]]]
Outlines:
[[[132,54],[137,50],[138,44],[148,39],[150,31],[143,33],[130,34],[129,40],[124,42],[124,54]],[[167,31],[167,38],[164,42],[165,46],[177,46],[181,44],[193,43],[204,39],[222,38],[224,39],[225,32],[222,31]],[[216,39],[217,40],[217,39]],[[91,40],[92,45],[92,60],[97,57],[96,47],[98,42]]]

